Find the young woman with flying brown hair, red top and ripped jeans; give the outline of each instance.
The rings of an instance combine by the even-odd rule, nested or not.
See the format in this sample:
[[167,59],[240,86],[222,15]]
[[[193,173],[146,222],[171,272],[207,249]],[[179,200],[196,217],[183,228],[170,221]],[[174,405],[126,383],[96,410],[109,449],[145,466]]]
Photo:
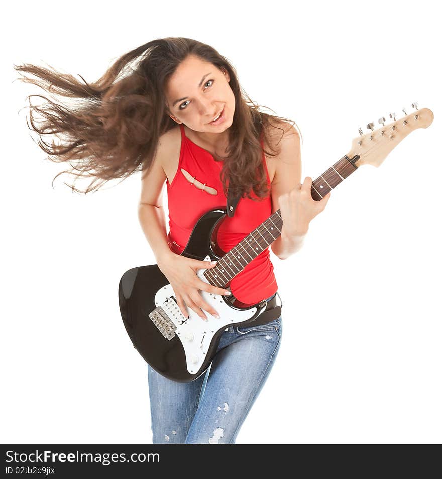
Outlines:
[[[29,64],[15,68],[40,78],[23,81],[77,99],[75,106],[52,100],[45,108],[32,106],[46,120],[41,127],[32,114],[30,119],[40,135],[65,135],[61,145],[39,145],[51,160],[69,161],[76,177],[93,177],[84,193],[142,171],[140,223],[186,317],[190,310],[201,321],[217,314],[199,290],[225,294],[195,274],[214,265],[181,253],[201,215],[226,205],[227,187],[241,199],[218,231],[218,245],[226,252],[280,209],[283,227],[271,248],[280,259],[288,258],[325,208],[330,193],[314,201],[311,178],[300,183],[298,131],[285,118],[260,112],[229,61],[206,44],[181,37],[151,41],[123,55],[95,83]],[[228,286],[244,303],[271,300],[278,285],[269,249]],[[281,335],[282,316],[226,328],[210,368],[187,383],[148,365],[153,443],[235,443],[272,369]]]

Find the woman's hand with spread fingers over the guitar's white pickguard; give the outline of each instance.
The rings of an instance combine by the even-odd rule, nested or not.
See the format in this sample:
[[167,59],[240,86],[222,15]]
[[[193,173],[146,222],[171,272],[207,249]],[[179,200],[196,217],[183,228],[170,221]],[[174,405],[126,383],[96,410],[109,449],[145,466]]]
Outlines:
[[[201,268],[213,268],[216,264],[211,265],[210,261],[187,258],[186,256],[177,255],[171,251],[169,255],[157,258],[157,265],[172,286],[176,302],[184,317],[187,318],[189,313],[183,301],[204,321],[207,321],[204,311],[219,318],[218,312],[213,306],[204,301],[199,294],[199,290],[222,295],[225,293],[230,295],[231,293],[224,288],[218,288],[209,283],[205,283],[196,275],[197,270]],[[202,311],[203,309],[204,311]]]

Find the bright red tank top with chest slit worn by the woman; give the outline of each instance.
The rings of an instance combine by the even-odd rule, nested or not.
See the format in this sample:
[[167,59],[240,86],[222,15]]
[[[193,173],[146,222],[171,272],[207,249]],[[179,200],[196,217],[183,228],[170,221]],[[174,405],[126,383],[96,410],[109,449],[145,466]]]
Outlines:
[[[170,249],[181,254],[189,240],[190,234],[197,220],[211,209],[225,207],[226,195],[223,192],[223,183],[220,172],[223,166],[221,161],[215,161],[212,154],[193,143],[186,137],[184,127],[181,129],[181,150],[177,172],[167,185],[167,203],[169,207],[168,242]],[[261,146],[263,146],[261,140]],[[269,173],[263,151],[263,162],[270,185]],[[186,170],[190,176],[206,188],[211,187],[217,194],[211,194],[191,184],[181,171]],[[252,190],[251,196],[257,198]],[[231,218],[228,215],[222,220],[218,229],[217,242],[226,253],[236,246],[252,230],[257,228],[272,214],[271,196],[258,201],[241,198]],[[232,293],[243,303],[258,303],[276,293],[278,285],[273,273],[273,264],[270,261],[269,247],[254,258],[230,283]]]

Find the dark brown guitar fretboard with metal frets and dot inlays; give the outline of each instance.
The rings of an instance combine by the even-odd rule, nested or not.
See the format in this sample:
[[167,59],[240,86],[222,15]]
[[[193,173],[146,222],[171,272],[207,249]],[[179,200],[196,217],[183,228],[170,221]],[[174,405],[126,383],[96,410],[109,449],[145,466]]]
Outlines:
[[[346,155],[328,168],[322,175],[312,181],[311,197],[315,201],[321,200],[356,170],[357,167],[354,162],[358,159],[359,155],[351,159]],[[282,217],[281,210],[278,209],[223,255],[214,268],[205,270],[204,277],[214,286],[226,287],[232,278],[281,235],[281,231]]]

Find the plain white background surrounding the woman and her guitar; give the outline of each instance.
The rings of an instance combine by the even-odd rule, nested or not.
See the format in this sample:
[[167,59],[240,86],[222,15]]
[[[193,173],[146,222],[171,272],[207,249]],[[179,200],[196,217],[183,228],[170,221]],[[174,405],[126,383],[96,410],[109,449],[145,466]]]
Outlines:
[[283,339],[237,443],[440,442],[435,4],[13,8],[1,66],[2,441],[152,440],[147,366],[117,296],[126,270],[155,263],[138,223],[140,173],[87,195],[72,194],[66,175],[52,188],[65,165],[46,159],[26,125],[26,96],[44,92],[13,81],[13,63],[95,81],[138,45],[184,36],[216,48],[255,102],[297,122],[302,181],[346,154],[358,127],[392,111],[401,117],[413,101],[434,113],[379,168],[361,167],[332,192],[302,250],[284,261],[271,253]]

